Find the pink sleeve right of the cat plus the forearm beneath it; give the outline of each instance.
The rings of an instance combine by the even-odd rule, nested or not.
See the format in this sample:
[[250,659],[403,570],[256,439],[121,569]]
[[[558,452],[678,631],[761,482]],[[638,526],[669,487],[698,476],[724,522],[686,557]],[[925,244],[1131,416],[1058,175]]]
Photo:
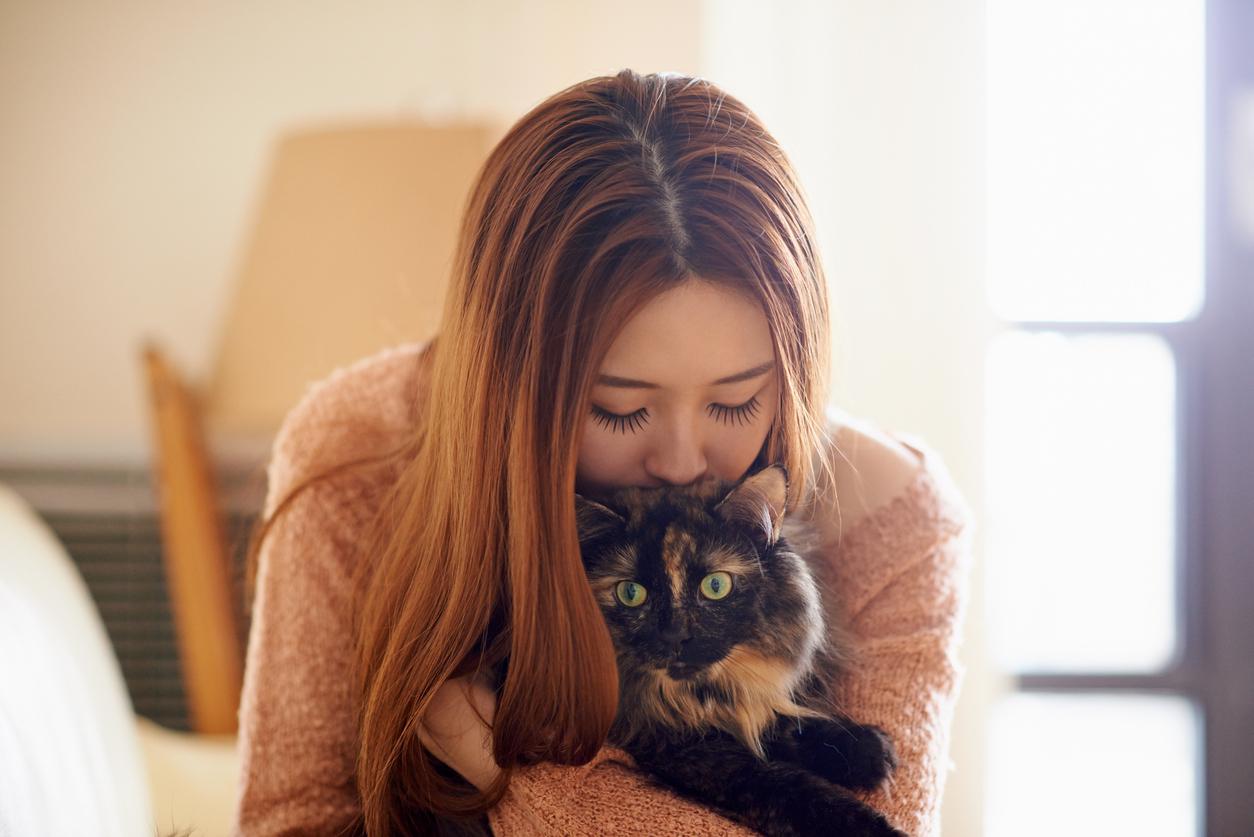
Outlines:
[[[899,765],[885,788],[858,796],[909,834],[939,832],[956,658],[966,601],[971,509],[944,464],[900,435],[922,467],[905,491],[859,521],[828,556],[860,655],[834,689],[860,723],[883,727]],[[514,774],[489,812],[498,836],[752,834],[652,783],[631,755],[603,747],[581,767],[542,763]]]

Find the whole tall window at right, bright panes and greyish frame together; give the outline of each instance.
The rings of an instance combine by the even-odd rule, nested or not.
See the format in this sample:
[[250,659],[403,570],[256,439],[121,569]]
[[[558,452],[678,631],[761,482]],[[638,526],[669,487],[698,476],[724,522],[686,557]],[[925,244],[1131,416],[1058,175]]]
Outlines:
[[986,833],[1250,833],[1254,4],[986,9]]

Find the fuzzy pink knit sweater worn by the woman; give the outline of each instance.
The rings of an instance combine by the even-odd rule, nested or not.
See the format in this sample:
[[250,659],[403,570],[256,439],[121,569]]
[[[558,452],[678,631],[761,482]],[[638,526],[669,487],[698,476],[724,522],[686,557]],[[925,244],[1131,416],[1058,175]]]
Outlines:
[[[387,349],[308,388],[275,440],[267,516],[301,478],[390,448],[411,427],[424,346]],[[895,438],[918,454],[918,474],[846,530],[833,555],[861,649],[836,696],[851,718],[888,730],[900,758],[890,786],[861,798],[897,827],[927,836],[939,833],[951,767],[972,513],[930,448]],[[359,811],[347,561],[372,487],[354,479],[336,477],[303,493],[260,556],[240,705],[236,834],[330,834]],[[498,836],[754,833],[652,787],[626,752],[608,745],[584,765],[519,769],[489,821]]]

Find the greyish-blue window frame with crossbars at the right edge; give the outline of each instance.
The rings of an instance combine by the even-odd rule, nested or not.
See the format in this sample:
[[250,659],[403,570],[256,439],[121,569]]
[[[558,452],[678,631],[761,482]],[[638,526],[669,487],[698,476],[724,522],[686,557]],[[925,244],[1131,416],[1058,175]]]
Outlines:
[[[1179,323],[1016,320],[1028,333],[1152,334],[1176,365],[1176,655],[1157,673],[1013,675],[1022,693],[1179,695],[1199,710],[1199,833],[1254,823],[1254,240],[1231,218],[1231,108],[1254,95],[1254,4],[1205,9],[1204,301]],[[1243,43],[1245,41],[1245,43]],[[1254,149],[1250,152],[1254,154]],[[1152,730],[1146,730],[1152,734]]]

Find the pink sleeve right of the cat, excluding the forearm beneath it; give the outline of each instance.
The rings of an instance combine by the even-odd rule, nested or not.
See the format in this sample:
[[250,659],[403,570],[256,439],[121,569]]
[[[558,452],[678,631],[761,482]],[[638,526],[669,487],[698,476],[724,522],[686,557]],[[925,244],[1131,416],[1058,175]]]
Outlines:
[[836,706],[882,727],[898,753],[883,787],[858,796],[914,837],[939,834],[949,728],[962,681],[973,514],[944,463],[915,437],[897,439],[922,468],[904,493],[859,521],[833,562],[856,655],[834,684]]

